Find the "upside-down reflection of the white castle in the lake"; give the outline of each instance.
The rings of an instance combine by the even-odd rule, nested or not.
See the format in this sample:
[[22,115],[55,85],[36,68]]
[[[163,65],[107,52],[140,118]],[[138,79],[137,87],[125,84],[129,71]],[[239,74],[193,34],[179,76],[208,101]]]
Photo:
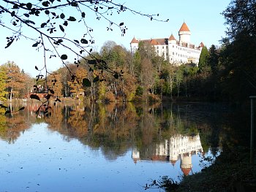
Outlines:
[[[148,149],[146,149],[148,152]],[[203,147],[200,142],[199,134],[195,136],[183,136],[177,134],[164,142],[156,144],[152,153],[138,150],[137,147],[132,149],[132,158],[135,164],[138,161],[170,161],[173,166],[176,161],[180,160],[181,170],[184,175],[188,175],[192,170],[192,155],[203,153]],[[144,154],[144,155],[142,155]],[[145,156],[145,154],[147,154]]]

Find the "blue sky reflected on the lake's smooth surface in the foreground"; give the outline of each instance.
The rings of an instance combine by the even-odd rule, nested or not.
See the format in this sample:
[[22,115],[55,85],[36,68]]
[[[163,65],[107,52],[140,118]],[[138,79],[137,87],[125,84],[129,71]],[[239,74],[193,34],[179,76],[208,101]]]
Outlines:
[[[127,145],[134,146],[131,141]],[[184,174],[180,158],[171,164],[162,159],[166,155],[147,156],[147,148],[136,161],[135,150],[129,147],[123,155],[106,158],[102,147],[84,145],[46,123],[32,124],[13,144],[0,139],[0,191],[144,191],[151,179],[167,175],[178,180]],[[200,159],[192,155],[189,174],[200,171]]]

